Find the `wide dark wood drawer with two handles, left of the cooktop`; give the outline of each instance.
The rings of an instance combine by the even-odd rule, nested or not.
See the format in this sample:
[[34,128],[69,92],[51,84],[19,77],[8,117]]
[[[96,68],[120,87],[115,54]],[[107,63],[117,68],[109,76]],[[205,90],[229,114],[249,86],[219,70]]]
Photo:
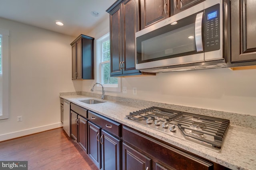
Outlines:
[[110,120],[102,115],[88,111],[88,119],[102,129],[112,133],[117,137],[121,137],[121,124]]

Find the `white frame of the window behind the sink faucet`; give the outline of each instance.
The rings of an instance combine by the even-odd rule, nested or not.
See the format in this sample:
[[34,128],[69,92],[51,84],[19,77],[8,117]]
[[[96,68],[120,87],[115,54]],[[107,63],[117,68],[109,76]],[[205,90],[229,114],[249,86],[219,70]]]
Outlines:
[[[101,62],[101,42],[102,41],[106,41],[106,39],[110,38],[110,34],[107,33],[106,35],[100,37],[99,39],[96,40],[96,63],[97,63],[97,71],[96,71],[96,75],[97,75],[97,82],[102,83],[102,70],[101,70],[101,64],[104,63],[108,63],[107,62]],[[104,86],[104,90],[105,91],[110,91],[110,92],[121,92],[121,78],[118,78],[118,84],[103,84]],[[102,87],[100,85],[97,84],[96,87],[97,90],[101,90]]]

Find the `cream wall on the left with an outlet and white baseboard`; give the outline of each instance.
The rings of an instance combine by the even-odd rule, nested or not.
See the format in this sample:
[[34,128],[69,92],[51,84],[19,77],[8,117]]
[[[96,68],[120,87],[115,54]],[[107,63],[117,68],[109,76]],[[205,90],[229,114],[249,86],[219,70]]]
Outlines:
[[76,37],[3,18],[0,27],[10,30],[10,113],[0,120],[0,141],[60,127],[59,92],[82,90],[71,80]]

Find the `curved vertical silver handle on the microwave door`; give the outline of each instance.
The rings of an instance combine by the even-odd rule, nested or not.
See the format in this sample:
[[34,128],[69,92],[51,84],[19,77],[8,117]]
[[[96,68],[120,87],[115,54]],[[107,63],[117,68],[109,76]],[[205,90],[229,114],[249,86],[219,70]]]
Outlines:
[[196,41],[196,51],[204,51],[203,41],[202,41],[202,20],[203,20],[203,12],[196,15],[195,22],[195,41]]

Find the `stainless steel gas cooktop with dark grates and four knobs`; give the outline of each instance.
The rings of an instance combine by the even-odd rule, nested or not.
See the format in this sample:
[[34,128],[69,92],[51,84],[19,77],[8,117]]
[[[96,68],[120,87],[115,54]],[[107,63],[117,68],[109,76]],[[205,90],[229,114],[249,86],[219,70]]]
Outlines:
[[220,151],[230,121],[160,107],[130,112],[126,119]]

